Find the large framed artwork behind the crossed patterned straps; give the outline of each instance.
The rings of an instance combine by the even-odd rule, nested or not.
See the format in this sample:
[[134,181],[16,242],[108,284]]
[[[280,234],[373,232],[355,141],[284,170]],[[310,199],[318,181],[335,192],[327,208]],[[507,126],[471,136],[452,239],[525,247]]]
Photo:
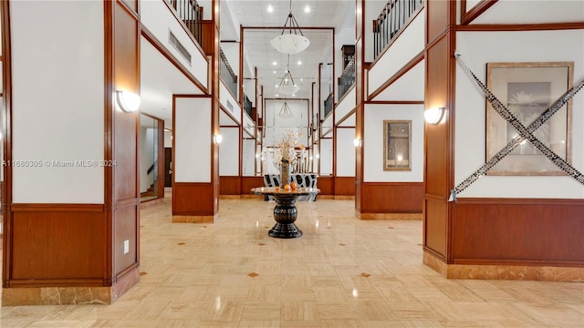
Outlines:
[[[486,84],[527,128],[572,87],[573,62],[487,63]],[[533,133],[568,163],[571,160],[571,101]],[[486,103],[486,160],[518,135],[515,128]],[[564,175],[528,141],[501,159],[488,175]]]

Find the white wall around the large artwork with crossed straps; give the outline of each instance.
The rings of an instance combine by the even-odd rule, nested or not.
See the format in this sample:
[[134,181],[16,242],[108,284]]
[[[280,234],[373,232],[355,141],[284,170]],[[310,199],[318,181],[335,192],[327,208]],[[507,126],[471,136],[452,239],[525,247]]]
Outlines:
[[[505,51],[501,51],[505,49]],[[457,34],[457,51],[485,83],[490,62],[573,61],[574,82],[584,77],[584,31],[481,32]],[[455,171],[458,184],[485,163],[485,96],[456,67]],[[496,96],[496,95],[495,95]],[[554,99],[555,100],[555,99]],[[584,171],[584,94],[572,102],[572,166]],[[454,187],[454,186],[453,186]],[[584,186],[554,176],[484,176],[459,197],[582,199]]]

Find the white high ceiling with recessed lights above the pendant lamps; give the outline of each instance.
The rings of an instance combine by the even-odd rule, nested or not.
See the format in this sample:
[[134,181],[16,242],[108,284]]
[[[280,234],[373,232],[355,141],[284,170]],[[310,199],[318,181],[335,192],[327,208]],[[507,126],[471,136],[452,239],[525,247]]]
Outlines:
[[[244,77],[254,77],[257,68],[258,86],[264,87],[264,97],[290,97],[278,92],[286,73],[288,57],[274,49],[270,41],[282,33],[290,12],[297,20],[308,49],[289,56],[289,69],[295,83],[301,87],[293,97],[311,96],[311,84],[318,79],[319,63],[323,63],[321,78],[330,81],[333,58],[333,34],[343,27],[354,26],[354,1],[283,1],[227,0],[222,2],[222,40],[239,40],[239,26],[244,28]],[[274,27],[266,29],[266,27]],[[276,65],[275,65],[276,63]]]

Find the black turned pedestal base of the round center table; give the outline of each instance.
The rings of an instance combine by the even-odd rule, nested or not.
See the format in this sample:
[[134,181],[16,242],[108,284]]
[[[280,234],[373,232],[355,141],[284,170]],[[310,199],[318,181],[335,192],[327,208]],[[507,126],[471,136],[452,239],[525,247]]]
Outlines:
[[276,225],[268,231],[268,236],[274,238],[298,238],[302,236],[302,231],[294,224],[298,214],[298,210],[294,205],[296,197],[275,197],[275,199],[274,220],[276,220]]

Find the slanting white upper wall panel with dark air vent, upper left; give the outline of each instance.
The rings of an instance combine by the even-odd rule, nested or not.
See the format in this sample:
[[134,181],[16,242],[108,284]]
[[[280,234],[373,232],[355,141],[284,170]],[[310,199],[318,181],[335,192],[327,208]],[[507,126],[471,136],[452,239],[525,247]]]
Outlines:
[[[163,1],[140,1],[140,21],[143,26],[154,35],[162,45],[183,64],[203,86],[207,86],[208,62],[201,51],[194,45],[191,37],[184,31],[183,26],[172,15]],[[184,48],[191,54],[189,63],[181,53],[169,42],[170,32],[176,36]]]

